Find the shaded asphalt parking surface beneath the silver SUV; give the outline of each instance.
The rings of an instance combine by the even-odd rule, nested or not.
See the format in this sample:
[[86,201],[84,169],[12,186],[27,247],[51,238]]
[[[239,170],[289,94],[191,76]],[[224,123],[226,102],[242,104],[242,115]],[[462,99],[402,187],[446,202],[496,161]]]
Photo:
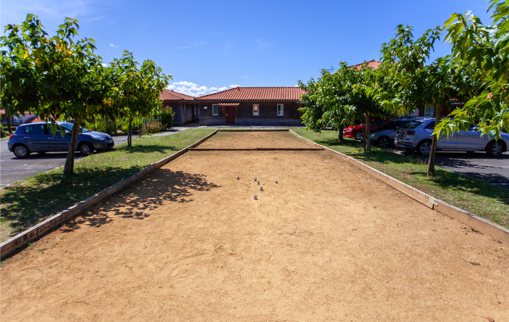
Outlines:
[[[400,149],[395,153],[411,155]],[[415,156],[419,158],[419,156]],[[423,161],[427,157],[420,157]],[[468,155],[466,152],[437,152],[435,164],[441,168],[462,173],[471,178],[485,180],[504,188],[509,188],[509,152],[502,153],[500,157],[489,157],[486,152],[475,152]]]

